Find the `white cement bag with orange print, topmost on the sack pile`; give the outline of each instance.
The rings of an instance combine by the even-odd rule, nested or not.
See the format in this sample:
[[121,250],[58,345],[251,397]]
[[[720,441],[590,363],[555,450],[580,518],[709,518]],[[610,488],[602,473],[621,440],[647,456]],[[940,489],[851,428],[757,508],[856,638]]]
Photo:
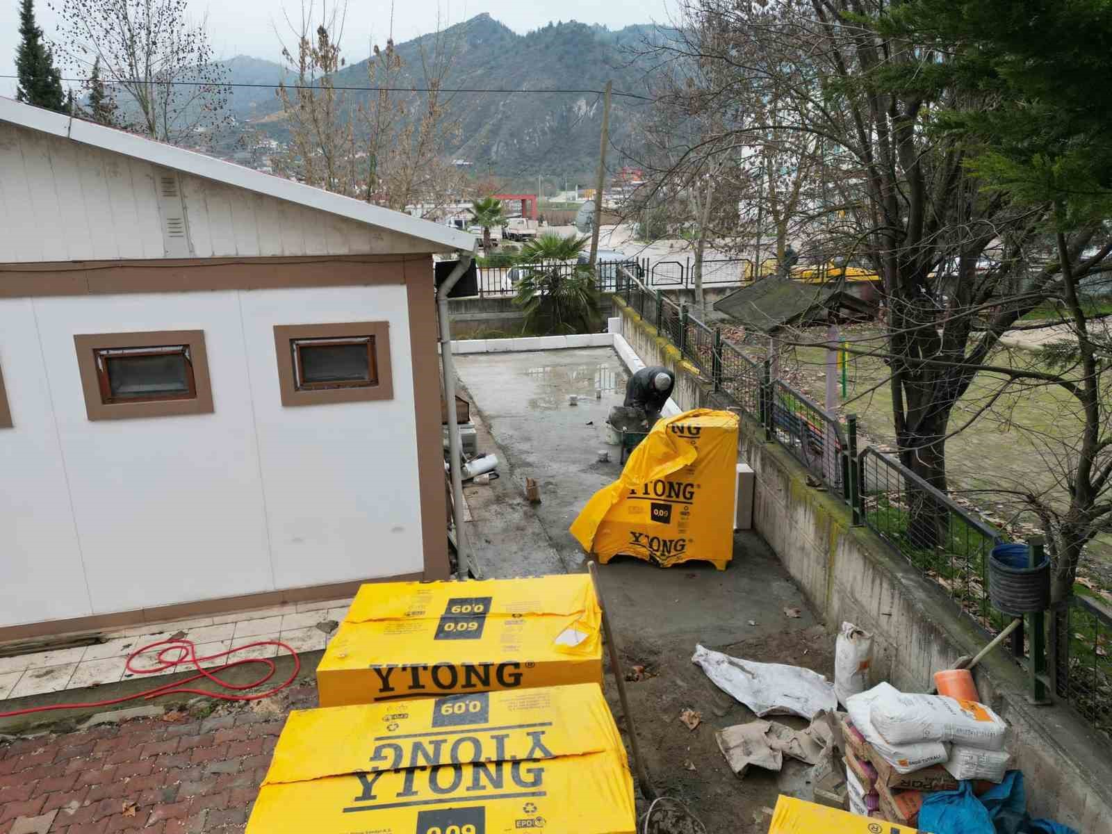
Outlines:
[[1007,729],[1003,718],[975,701],[895,689],[873,702],[870,716],[876,732],[892,744],[934,741],[1003,749]]

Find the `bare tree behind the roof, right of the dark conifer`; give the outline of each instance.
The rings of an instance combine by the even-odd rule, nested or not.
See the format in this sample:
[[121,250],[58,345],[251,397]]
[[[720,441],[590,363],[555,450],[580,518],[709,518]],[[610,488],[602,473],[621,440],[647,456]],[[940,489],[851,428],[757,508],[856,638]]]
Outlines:
[[67,68],[117,89],[116,122],[180,143],[231,121],[229,70],[187,0],[58,0],[54,49]]

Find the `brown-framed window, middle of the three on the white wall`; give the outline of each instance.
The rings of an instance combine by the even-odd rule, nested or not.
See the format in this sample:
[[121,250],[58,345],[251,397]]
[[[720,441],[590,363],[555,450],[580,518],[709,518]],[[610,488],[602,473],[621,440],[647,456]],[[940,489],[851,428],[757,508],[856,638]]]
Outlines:
[[202,330],[75,336],[90,420],[210,414]]

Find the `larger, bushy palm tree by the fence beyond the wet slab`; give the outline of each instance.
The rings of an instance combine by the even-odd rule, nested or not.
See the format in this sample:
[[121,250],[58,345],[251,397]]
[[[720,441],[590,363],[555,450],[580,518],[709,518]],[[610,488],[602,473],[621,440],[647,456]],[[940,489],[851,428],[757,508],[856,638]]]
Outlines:
[[[576,259],[590,238],[548,232],[522,247],[525,275],[514,304],[525,310],[525,327],[536,334],[589,332],[600,320],[594,271]],[[570,261],[570,262],[568,262]]]

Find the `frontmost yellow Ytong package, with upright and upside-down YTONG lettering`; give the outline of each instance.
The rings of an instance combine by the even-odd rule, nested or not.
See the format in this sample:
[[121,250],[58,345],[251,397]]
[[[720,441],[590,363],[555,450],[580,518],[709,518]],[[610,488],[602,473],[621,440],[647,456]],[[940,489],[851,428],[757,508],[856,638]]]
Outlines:
[[290,713],[248,834],[633,834],[597,684]]

